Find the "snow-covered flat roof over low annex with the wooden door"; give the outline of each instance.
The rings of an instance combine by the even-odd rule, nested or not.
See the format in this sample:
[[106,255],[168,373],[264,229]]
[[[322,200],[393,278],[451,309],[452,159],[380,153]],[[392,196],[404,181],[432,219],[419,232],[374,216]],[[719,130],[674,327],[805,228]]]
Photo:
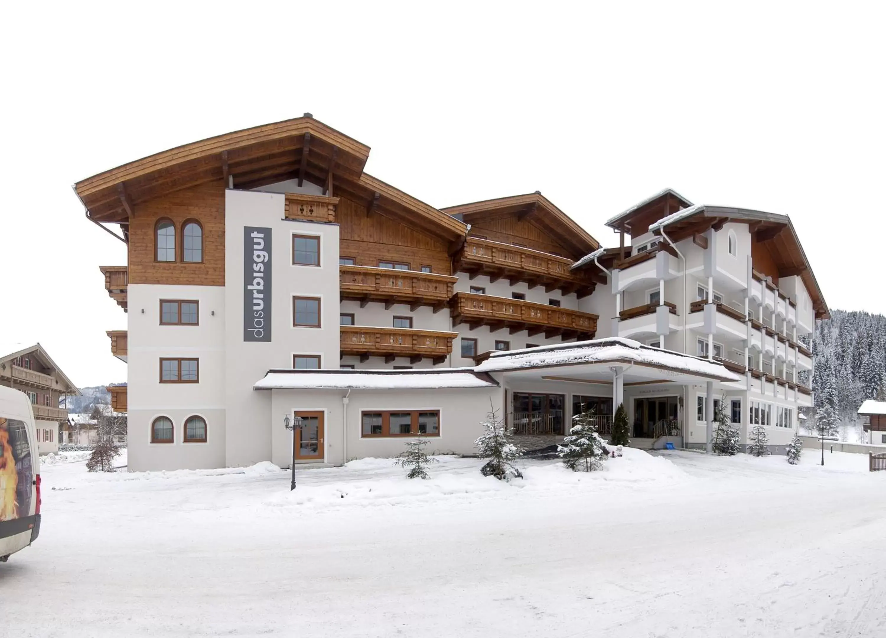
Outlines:
[[495,387],[486,373],[471,368],[448,370],[268,370],[253,390],[344,389],[420,390]]

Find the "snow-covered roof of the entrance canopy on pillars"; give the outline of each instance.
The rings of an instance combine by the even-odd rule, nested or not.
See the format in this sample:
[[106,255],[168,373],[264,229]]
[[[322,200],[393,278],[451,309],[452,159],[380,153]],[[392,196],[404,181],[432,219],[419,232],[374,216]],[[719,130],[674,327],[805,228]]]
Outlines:
[[478,372],[494,372],[606,362],[634,363],[722,381],[741,380],[740,377],[727,370],[722,363],[699,359],[691,354],[643,346],[633,339],[617,337],[496,352],[491,354],[485,362],[480,363],[476,370]]

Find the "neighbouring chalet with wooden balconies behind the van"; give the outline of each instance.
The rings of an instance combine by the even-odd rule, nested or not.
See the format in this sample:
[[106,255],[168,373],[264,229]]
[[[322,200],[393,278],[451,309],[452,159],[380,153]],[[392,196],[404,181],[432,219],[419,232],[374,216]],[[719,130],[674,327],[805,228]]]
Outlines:
[[58,407],[59,400],[79,396],[80,391],[43,346],[0,345],[0,385],[20,390],[31,400],[38,452],[58,452],[59,424],[67,424],[67,410]]

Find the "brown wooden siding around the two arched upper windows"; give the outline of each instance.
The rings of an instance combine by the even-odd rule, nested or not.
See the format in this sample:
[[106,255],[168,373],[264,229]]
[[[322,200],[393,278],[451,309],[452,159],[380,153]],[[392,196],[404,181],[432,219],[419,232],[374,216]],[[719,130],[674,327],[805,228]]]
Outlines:
[[[155,261],[159,219],[175,223],[176,261]],[[183,263],[183,222],[203,226],[203,262]],[[216,181],[177,191],[135,206],[129,219],[129,283],[224,285],[224,183]]]

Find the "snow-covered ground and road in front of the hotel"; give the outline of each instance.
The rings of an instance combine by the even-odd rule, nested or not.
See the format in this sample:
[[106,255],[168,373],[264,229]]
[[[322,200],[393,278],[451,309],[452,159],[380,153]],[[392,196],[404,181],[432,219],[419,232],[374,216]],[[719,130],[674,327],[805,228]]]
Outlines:
[[[43,463],[0,565],[9,636],[883,636],[886,472],[636,450],[483,478],[441,457],[289,473]],[[119,464],[125,463],[125,457]]]

